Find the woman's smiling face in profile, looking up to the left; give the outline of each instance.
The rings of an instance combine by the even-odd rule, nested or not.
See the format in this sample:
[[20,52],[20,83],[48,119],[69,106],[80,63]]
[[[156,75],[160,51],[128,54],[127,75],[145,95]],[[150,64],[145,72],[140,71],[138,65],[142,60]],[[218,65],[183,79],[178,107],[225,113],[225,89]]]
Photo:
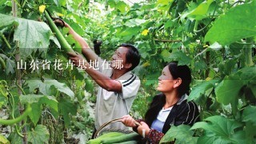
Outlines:
[[162,70],[162,74],[158,78],[157,90],[161,91],[163,93],[173,90],[174,84],[175,84],[174,81],[175,80],[174,80],[173,76],[170,74],[170,70],[169,70],[168,66],[166,66]]

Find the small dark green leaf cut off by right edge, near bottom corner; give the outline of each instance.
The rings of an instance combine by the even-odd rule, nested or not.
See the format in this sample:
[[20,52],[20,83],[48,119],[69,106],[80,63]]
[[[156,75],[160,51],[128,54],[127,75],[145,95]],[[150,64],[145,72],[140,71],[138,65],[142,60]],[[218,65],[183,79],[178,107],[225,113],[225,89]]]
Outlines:
[[251,122],[256,126],[256,106],[246,106],[242,112],[242,122]]

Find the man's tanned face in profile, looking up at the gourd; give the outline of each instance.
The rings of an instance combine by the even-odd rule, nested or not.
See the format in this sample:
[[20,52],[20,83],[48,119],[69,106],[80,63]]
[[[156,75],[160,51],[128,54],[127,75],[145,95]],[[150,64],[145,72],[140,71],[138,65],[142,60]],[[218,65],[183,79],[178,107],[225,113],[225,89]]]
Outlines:
[[[110,67],[114,69],[123,69],[126,64],[126,54],[128,52],[128,48],[126,47],[119,47],[117,50],[115,50],[114,55],[112,56],[112,62],[110,64]],[[118,66],[119,64],[119,66]],[[121,67],[120,67],[121,66]]]

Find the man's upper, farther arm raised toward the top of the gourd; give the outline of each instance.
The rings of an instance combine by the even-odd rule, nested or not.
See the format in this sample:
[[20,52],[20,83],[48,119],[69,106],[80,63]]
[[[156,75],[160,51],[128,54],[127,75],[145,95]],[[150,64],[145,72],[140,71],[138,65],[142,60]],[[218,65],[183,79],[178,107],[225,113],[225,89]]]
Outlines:
[[72,34],[74,39],[82,46],[82,54],[86,57],[87,61],[95,62],[97,61],[98,55],[94,53],[94,50],[90,49],[88,43],[76,33],[72,27],[65,22],[65,27],[69,28],[69,34]]

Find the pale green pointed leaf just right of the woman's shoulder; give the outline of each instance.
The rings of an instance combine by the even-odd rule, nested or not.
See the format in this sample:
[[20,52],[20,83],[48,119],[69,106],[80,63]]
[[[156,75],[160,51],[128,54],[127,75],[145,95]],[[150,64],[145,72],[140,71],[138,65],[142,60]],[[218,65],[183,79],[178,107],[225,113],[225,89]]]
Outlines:
[[215,86],[215,82],[217,80],[210,80],[201,82],[198,86],[194,86],[188,98],[188,101],[192,101],[194,99],[198,99],[202,94],[206,93],[206,90]]

